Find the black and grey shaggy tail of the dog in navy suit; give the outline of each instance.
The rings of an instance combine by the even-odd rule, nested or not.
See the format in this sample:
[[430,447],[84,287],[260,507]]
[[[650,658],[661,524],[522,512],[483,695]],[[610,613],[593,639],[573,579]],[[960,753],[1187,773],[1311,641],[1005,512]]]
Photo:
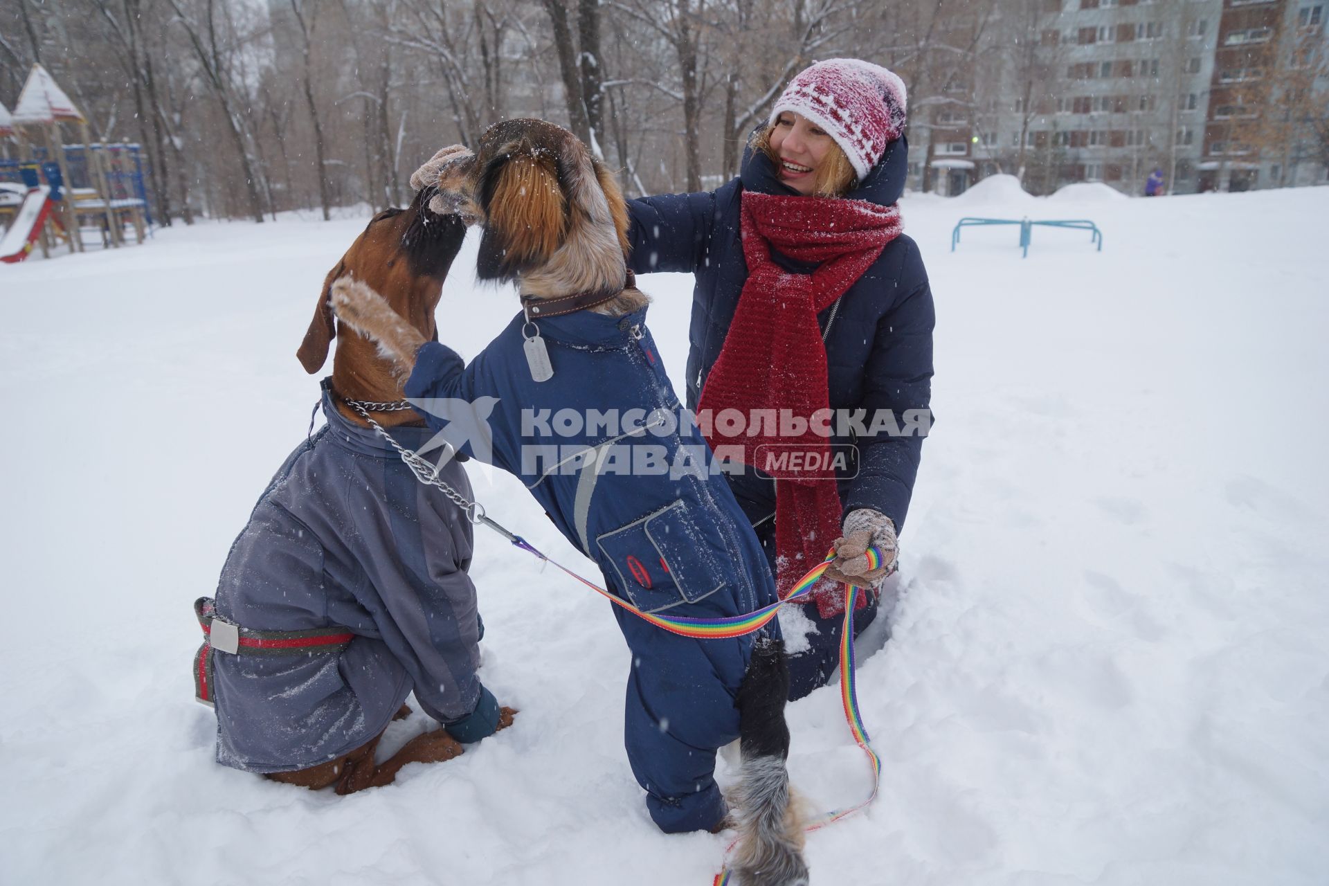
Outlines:
[[759,638],[736,700],[743,765],[735,792],[734,870],[742,886],[807,886],[803,814],[789,789],[789,671],[784,643]]

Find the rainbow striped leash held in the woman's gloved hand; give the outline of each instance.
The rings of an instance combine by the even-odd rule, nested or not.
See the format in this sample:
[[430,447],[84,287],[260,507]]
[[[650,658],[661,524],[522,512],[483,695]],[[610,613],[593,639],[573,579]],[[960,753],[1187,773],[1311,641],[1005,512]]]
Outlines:
[[[482,522],[490,522],[482,519]],[[552,563],[557,569],[562,570],[567,575],[573,576],[590,590],[595,591],[605,599],[607,599],[614,606],[627,610],[633,615],[645,619],[658,628],[668,631],[671,634],[678,634],[680,636],[690,636],[699,640],[714,640],[720,638],[735,638],[743,636],[744,634],[752,634],[754,631],[762,630],[771,619],[775,618],[776,612],[780,611],[781,606],[797,602],[812,592],[812,586],[817,583],[821,574],[827,571],[827,567],[835,562],[835,551],[832,550],[827,554],[827,558],[809,569],[807,574],[799,579],[793,588],[784,596],[784,599],[771,603],[769,606],[763,606],[755,612],[748,612],[747,615],[730,615],[724,618],[715,619],[690,619],[683,616],[668,616],[657,615],[654,612],[643,612],[627,600],[614,596],[606,591],[599,584],[589,582],[573,570],[567,569],[562,563],[550,559],[544,553],[537,550],[530,542],[520,535],[514,535],[500,527],[508,539],[524,551],[530,551],[546,563]],[[867,551],[868,569],[874,570],[881,566],[881,551],[876,547],[869,547]],[[833,812],[821,813],[813,818],[808,826],[807,832],[821,830],[828,825],[852,816],[853,813],[867,809],[872,805],[872,801],[877,798],[877,790],[881,788],[881,757],[877,752],[872,749],[872,739],[868,736],[868,727],[863,723],[863,715],[859,711],[859,691],[857,691],[857,677],[855,675],[855,658],[853,658],[853,607],[859,602],[859,594],[863,588],[856,584],[844,586],[844,626],[840,631],[840,701],[844,705],[844,719],[849,724],[849,732],[853,735],[855,744],[868,756],[868,764],[872,768],[872,793],[863,802],[855,804],[853,806],[845,806],[843,809],[836,809]],[[730,849],[734,849],[734,843],[730,843],[724,854],[728,855]],[[715,875],[712,886],[728,886],[731,882],[731,871],[727,867],[722,867],[720,873]]]

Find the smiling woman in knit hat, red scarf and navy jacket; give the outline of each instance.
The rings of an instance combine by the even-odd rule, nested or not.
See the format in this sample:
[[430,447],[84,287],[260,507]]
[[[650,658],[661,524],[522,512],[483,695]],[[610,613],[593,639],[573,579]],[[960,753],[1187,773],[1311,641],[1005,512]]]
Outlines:
[[[785,619],[791,699],[824,685],[839,663],[836,582],[873,588],[860,598],[856,635],[876,616],[930,424],[932,291],[897,206],[904,125],[898,77],[823,61],[775,102],[738,178],[629,203],[633,270],[696,275],[687,405],[711,446],[742,462],[730,482],[781,592],[835,546],[833,580],[807,607],[805,644]],[[744,424],[707,421],[727,409]],[[779,457],[795,452],[801,458]],[[885,554],[874,570],[869,545]]]

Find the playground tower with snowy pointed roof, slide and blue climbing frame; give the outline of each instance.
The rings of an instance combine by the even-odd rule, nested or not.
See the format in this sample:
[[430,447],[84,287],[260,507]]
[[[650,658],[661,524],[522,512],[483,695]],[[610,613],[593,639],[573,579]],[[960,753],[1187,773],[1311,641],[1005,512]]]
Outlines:
[[[61,124],[77,124],[82,143],[66,146]],[[142,153],[137,145],[93,143],[86,118],[41,65],[32,66],[13,114],[0,117],[0,138],[5,135],[17,139],[28,162],[0,161],[0,183],[9,194],[0,199],[0,217],[13,217],[0,239],[0,260],[21,262],[37,243],[49,255],[53,236],[81,252],[85,230],[96,231],[102,246],[118,248],[126,230],[144,242],[152,217]],[[16,187],[24,197],[13,207]]]

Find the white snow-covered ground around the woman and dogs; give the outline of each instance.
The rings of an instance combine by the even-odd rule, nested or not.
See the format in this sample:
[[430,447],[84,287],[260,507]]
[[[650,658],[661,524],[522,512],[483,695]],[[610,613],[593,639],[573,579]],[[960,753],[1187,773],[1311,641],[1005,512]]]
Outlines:
[[[894,636],[860,668],[884,760],[809,838],[815,883],[1324,883],[1329,189],[905,201],[937,300],[937,426]],[[965,232],[961,215],[1095,219]],[[609,606],[478,533],[484,679],[516,725],[338,798],[213,762],[190,603],[304,436],[294,352],[363,221],[198,224],[0,267],[0,881],[708,882],[621,747]],[[473,246],[473,242],[472,242]],[[473,353],[513,313],[464,252]],[[690,280],[643,280],[683,369]],[[508,477],[489,513],[578,557]],[[581,561],[585,563],[585,561]],[[791,708],[816,805],[868,786],[835,689]],[[424,728],[417,715],[391,744]]]

